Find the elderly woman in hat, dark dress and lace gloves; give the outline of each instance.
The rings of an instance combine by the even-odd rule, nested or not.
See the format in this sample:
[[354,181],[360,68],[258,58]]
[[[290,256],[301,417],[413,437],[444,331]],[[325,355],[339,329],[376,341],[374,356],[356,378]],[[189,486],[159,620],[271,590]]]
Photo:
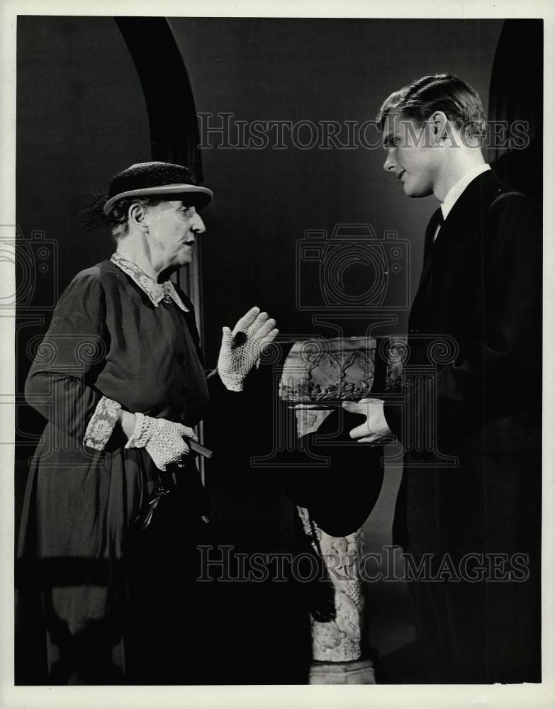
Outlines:
[[[47,419],[18,549],[30,682],[218,681],[225,596],[195,581],[198,545],[218,537],[191,450],[209,384],[191,301],[169,280],[211,198],[179,165],[114,177],[116,252],[69,284],[30,370],[28,403]],[[252,308],[223,328],[211,388],[240,391],[274,325]]]

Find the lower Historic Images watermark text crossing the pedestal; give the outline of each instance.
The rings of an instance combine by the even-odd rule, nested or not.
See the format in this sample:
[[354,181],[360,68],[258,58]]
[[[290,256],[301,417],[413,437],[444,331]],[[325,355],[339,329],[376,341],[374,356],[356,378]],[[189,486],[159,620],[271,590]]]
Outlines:
[[[312,581],[415,581],[430,584],[515,583],[529,579],[530,559],[525,552],[467,552],[451,554],[403,552],[400,547],[384,546],[381,552],[357,557],[353,554],[308,552],[239,552],[232,545],[199,545],[197,581],[206,583],[300,583]],[[323,562],[323,563],[322,563]]]

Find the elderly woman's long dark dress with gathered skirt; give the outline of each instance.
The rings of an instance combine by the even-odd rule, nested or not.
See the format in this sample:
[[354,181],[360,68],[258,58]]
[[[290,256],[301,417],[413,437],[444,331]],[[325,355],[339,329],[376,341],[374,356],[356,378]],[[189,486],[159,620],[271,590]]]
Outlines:
[[176,681],[178,670],[177,681],[203,681],[212,614],[206,603],[200,610],[208,591],[191,584],[191,565],[211,523],[196,465],[168,476],[172,512],[137,545],[130,529],[158,480],[150,456],[125,450],[116,431],[102,452],[82,445],[101,396],[131,412],[201,420],[206,376],[193,308],[179,295],[189,313],[174,302],[155,306],[103,261],[68,286],[35,357],[26,397],[47,425],[18,540],[23,683]]

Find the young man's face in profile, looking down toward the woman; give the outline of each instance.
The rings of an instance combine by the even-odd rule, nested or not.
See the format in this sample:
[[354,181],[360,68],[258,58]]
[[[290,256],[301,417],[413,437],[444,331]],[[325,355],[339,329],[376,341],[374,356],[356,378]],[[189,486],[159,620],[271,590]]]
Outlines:
[[408,197],[433,194],[441,151],[430,131],[429,123],[418,125],[395,109],[386,116],[382,139],[387,157],[383,169],[400,179]]

